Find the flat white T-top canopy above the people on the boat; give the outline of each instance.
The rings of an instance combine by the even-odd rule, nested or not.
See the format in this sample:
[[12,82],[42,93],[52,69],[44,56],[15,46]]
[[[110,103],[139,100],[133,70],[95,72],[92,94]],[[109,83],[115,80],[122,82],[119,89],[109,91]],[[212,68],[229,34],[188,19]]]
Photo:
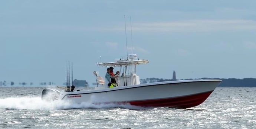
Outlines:
[[108,66],[127,66],[127,65],[131,65],[131,64],[147,64],[149,61],[148,60],[131,60],[131,61],[117,61],[117,62],[101,62],[101,63],[97,63],[98,66],[105,66],[105,67],[108,67]]

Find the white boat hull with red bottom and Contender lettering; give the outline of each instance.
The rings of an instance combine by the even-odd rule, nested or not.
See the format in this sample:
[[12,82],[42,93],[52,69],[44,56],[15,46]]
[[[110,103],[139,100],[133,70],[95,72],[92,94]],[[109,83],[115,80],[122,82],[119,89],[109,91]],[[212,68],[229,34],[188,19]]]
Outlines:
[[221,80],[180,80],[101,90],[63,92],[60,100],[75,103],[190,108],[203,103]]

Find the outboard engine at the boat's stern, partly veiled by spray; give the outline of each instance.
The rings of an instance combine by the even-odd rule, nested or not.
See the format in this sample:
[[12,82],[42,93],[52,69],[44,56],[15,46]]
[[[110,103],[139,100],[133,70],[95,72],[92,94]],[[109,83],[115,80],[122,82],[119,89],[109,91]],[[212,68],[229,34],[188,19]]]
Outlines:
[[42,91],[42,100],[55,101],[58,100],[60,91],[50,88],[44,88]]

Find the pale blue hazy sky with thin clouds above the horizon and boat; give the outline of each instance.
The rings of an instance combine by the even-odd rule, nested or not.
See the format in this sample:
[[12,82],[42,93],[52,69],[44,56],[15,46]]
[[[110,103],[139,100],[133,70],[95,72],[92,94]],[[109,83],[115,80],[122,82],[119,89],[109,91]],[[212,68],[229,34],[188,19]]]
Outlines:
[[177,79],[256,78],[255,5],[255,0],[1,0],[0,81],[62,85],[69,60],[73,78],[92,85],[93,71],[103,77],[106,71],[96,62],[125,58],[127,49],[149,60],[137,66],[141,79],[171,79],[174,70]]

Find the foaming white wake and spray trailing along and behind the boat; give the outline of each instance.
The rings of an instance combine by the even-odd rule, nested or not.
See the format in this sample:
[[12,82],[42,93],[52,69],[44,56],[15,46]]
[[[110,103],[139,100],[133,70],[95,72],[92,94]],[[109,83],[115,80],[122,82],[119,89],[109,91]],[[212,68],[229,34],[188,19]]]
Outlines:
[[81,103],[75,104],[69,101],[44,101],[41,97],[9,97],[0,98],[0,109],[9,110],[59,110],[59,109],[79,109],[79,108],[125,108],[125,109],[148,109],[132,105],[117,104],[91,104]]

